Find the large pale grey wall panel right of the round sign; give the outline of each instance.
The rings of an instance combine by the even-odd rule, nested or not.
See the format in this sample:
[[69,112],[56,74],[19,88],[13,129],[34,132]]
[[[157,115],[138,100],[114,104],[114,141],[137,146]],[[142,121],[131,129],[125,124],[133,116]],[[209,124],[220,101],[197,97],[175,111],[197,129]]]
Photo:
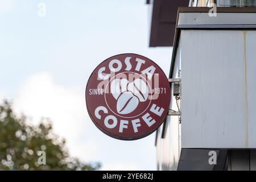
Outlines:
[[256,31],[182,30],[182,147],[255,148]]

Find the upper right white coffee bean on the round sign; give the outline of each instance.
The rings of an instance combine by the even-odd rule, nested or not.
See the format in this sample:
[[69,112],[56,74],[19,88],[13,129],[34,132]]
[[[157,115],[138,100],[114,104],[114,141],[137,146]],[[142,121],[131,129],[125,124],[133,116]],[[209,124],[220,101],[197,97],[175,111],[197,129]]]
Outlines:
[[147,84],[141,78],[137,78],[133,82],[130,82],[127,86],[127,90],[132,92],[134,96],[137,96],[140,102],[145,102],[148,98]]

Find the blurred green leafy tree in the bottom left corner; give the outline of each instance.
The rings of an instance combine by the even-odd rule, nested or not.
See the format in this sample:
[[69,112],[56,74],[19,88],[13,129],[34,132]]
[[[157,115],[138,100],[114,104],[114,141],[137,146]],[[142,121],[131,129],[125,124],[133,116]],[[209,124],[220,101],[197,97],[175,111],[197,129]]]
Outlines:
[[9,102],[0,105],[0,170],[96,170],[100,167],[98,163],[85,164],[71,158],[65,140],[52,132],[51,122],[31,126],[26,121],[24,115],[17,117],[13,113]]

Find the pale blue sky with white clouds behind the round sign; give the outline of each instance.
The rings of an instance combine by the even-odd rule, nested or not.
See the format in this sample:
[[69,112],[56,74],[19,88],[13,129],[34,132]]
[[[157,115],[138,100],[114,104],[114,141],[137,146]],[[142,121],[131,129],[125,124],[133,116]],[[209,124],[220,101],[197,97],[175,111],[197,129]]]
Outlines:
[[[168,75],[171,47],[149,48],[146,0],[0,0],[0,101],[33,125],[51,118],[72,156],[102,170],[155,170],[155,133],[135,141],[108,137],[90,120],[86,82],[119,53],[154,60]],[[40,16],[40,3],[46,16]]]

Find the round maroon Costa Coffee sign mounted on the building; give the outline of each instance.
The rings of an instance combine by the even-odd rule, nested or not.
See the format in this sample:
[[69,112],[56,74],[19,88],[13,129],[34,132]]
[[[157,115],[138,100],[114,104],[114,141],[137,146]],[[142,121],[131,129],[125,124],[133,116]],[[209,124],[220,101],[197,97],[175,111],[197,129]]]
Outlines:
[[157,64],[147,57],[124,53],[94,69],[85,97],[90,118],[98,129],[116,139],[135,140],[162,124],[171,90]]

